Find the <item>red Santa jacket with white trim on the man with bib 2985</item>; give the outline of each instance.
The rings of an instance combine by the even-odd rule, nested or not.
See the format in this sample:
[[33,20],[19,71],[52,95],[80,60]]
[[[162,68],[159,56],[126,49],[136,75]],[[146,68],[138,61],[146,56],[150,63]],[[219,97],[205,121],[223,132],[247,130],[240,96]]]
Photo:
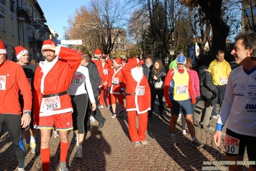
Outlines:
[[[40,61],[35,71],[33,93],[35,127],[38,126],[39,117],[73,111],[69,94],[43,98],[43,95],[60,94],[67,91],[81,62],[81,56],[75,50],[67,47],[56,47],[55,55],[57,57],[51,62],[51,65],[48,65],[47,61]],[[48,105],[53,101],[53,104],[60,104],[57,105],[58,108],[55,108],[55,105]]]

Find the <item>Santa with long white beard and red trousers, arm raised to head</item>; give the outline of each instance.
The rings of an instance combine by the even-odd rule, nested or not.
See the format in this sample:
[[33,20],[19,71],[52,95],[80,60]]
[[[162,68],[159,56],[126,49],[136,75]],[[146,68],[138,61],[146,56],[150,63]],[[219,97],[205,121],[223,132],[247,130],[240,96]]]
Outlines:
[[[148,126],[148,110],[150,110],[151,93],[148,79],[143,74],[142,61],[132,58],[124,65],[122,72],[126,79],[126,111],[128,116],[128,131],[132,144],[139,147],[148,144],[146,129]],[[139,117],[137,129],[136,117]]]

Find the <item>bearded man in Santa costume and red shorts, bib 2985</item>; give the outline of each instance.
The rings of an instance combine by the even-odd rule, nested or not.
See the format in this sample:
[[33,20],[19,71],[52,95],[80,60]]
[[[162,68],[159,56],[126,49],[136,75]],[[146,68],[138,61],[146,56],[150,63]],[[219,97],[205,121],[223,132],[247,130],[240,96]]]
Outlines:
[[60,168],[66,166],[69,149],[68,131],[73,129],[72,104],[67,89],[71,85],[74,73],[78,69],[81,56],[76,50],[57,46],[52,40],[44,40],[42,54],[34,80],[34,125],[41,133],[42,170],[49,170],[51,130],[55,126],[60,134]]

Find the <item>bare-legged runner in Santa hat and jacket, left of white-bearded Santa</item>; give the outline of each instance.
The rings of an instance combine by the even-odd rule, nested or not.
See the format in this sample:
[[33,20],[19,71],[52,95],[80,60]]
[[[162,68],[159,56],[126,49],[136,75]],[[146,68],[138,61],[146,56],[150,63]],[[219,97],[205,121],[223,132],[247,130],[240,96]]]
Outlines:
[[[124,114],[124,86],[125,79],[123,73],[121,71],[123,65],[123,61],[121,58],[115,58],[113,60],[113,66],[110,68],[110,72],[108,74],[108,92],[110,93],[110,99],[112,104],[112,118],[122,117]],[[116,110],[116,100],[118,100],[119,105],[121,107],[121,112],[119,114],[115,114]]]

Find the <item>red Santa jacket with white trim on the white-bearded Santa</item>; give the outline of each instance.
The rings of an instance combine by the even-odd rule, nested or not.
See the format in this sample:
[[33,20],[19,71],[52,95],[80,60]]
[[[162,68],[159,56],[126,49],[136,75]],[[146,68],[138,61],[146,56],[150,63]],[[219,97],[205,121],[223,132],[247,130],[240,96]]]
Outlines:
[[142,114],[151,109],[151,93],[148,79],[144,75],[139,82],[132,77],[130,70],[136,67],[137,63],[139,60],[132,58],[124,65],[122,72],[126,79],[126,111]]

